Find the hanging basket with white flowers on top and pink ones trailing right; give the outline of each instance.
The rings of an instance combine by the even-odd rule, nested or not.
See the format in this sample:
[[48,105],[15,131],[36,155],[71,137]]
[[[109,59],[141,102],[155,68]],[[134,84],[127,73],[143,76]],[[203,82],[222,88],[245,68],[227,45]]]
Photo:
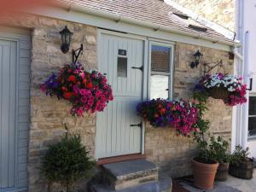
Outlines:
[[241,83],[241,78],[232,74],[223,73],[207,74],[195,85],[194,93],[197,96],[212,96],[222,99],[228,106],[236,106],[247,102],[246,84]]

